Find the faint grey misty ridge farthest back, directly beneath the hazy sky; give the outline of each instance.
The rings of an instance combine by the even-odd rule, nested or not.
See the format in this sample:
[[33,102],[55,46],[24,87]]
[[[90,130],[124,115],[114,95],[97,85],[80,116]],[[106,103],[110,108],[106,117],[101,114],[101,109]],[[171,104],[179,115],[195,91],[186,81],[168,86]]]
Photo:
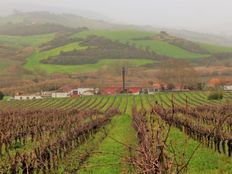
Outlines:
[[[176,30],[170,28],[159,28],[153,26],[138,26],[138,25],[120,25],[106,22],[103,20],[97,20],[92,18],[81,17],[73,14],[56,14],[46,11],[40,12],[14,12],[7,17],[0,17],[0,28],[9,24],[54,24],[63,25],[66,28],[82,28],[87,27],[89,29],[137,29],[142,31],[167,31],[168,33],[185,38],[194,42],[202,42],[209,44],[217,44],[223,46],[232,45],[232,37],[225,37],[223,35],[205,34],[188,30]],[[12,26],[13,27],[13,26]],[[7,26],[5,26],[7,28]],[[64,27],[63,27],[64,28]],[[4,29],[2,29],[4,30]],[[70,30],[70,29],[69,29]]]

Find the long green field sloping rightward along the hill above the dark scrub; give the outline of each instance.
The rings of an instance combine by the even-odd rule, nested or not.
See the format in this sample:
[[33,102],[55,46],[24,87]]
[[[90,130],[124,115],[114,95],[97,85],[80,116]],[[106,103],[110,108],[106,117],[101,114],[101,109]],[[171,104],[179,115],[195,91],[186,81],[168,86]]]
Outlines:
[[170,56],[174,58],[182,58],[182,59],[194,59],[194,58],[202,58],[207,55],[196,54],[185,49],[179,48],[177,46],[171,45],[164,41],[159,40],[138,40],[134,41],[135,38],[144,38],[154,36],[156,33],[152,32],[144,32],[144,31],[136,31],[136,30],[125,30],[125,31],[104,31],[104,30],[90,30],[84,31],[80,33],[74,34],[73,38],[85,38],[89,35],[97,35],[109,38],[111,40],[117,40],[122,43],[135,43],[137,47],[150,47],[154,52]]

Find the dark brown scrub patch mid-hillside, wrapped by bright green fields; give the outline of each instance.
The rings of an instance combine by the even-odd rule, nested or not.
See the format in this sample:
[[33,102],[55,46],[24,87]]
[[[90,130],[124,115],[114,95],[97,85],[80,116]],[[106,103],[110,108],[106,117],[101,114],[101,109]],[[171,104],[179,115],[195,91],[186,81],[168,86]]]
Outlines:
[[110,39],[89,36],[80,42],[87,49],[61,53],[57,57],[51,57],[42,61],[46,64],[82,65],[94,64],[102,59],[152,59],[162,60],[166,57],[146,52],[131,45],[122,44]]

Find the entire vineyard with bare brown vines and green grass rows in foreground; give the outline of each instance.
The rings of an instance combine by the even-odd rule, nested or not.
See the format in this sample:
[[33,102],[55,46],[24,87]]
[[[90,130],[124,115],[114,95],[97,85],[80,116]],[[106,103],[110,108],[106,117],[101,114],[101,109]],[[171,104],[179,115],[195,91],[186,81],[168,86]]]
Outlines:
[[232,173],[232,93],[0,102],[0,173]]

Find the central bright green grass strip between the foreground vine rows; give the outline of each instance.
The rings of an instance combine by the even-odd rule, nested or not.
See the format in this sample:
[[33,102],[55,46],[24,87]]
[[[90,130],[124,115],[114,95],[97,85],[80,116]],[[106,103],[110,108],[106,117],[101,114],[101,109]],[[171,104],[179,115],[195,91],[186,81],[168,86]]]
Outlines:
[[[128,149],[117,141],[126,144],[136,144],[135,132],[131,127],[131,121],[129,115],[114,117],[112,119],[112,129],[96,150],[101,153],[93,153],[87,163],[84,164],[85,167],[82,167],[78,173],[119,174],[122,173],[123,170],[128,171],[129,166],[125,163],[125,157],[129,153]],[[113,137],[113,139],[111,137]]]

